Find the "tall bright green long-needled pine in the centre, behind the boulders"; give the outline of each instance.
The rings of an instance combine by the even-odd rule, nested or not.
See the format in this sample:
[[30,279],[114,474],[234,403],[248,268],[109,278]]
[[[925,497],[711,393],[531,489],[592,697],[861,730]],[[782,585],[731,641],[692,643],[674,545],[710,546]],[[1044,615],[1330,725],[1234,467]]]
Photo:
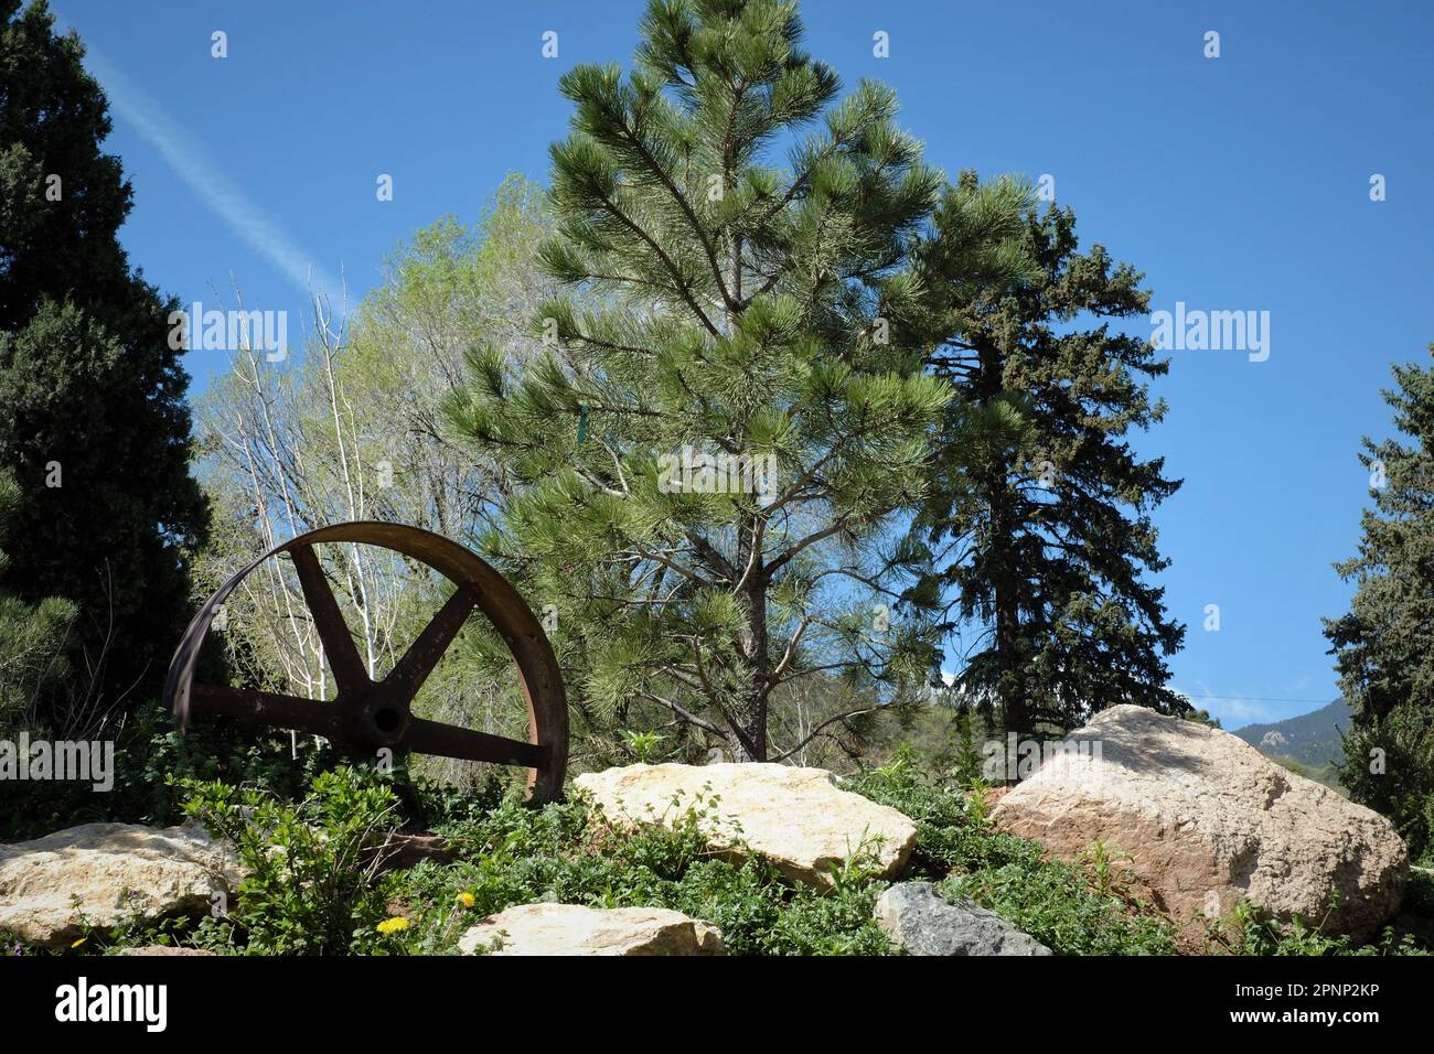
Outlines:
[[657,0],[641,36],[627,79],[561,80],[543,258],[605,307],[548,304],[522,376],[475,354],[450,417],[513,476],[485,545],[548,608],[579,714],[776,760],[822,731],[769,743],[782,685],[837,671],[889,704],[932,660],[875,554],[948,399],[895,336],[942,179],[889,89],[836,102],[794,4]]

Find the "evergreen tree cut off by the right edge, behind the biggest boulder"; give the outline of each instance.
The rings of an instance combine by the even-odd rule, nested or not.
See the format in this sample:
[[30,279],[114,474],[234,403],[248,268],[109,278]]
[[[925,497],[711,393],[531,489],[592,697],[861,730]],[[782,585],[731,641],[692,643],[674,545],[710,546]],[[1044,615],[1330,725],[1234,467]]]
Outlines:
[[1357,588],[1325,635],[1354,710],[1339,782],[1418,858],[1434,836],[1434,367],[1395,366],[1394,380],[1384,399],[1412,442],[1364,439],[1374,508],[1359,552],[1335,565]]

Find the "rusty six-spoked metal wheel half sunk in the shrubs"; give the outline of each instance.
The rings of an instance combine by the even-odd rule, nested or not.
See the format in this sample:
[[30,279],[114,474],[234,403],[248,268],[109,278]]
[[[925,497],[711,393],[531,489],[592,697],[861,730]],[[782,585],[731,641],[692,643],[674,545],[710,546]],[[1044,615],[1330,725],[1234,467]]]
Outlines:
[[[453,595],[380,681],[369,677],[354,648],[338,602],[324,578],[314,545],[357,542],[393,549],[433,568],[455,587]],[[264,561],[288,554],[304,602],[314,618],[338,695],[333,701],[254,688],[195,684],[199,658],[215,612]],[[410,706],[447,645],[478,608],[508,642],[528,700],[528,743],[413,716]],[[165,706],[188,723],[194,714],[222,714],[328,739],[344,753],[373,757],[383,747],[469,761],[528,769],[528,799],[562,797],[568,767],[568,701],[558,660],[542,625],[518,591],[473,552],[442,535],[402,523],[354,522],[318,528],[275,546],[229,578],[189,622],[165,681]]]

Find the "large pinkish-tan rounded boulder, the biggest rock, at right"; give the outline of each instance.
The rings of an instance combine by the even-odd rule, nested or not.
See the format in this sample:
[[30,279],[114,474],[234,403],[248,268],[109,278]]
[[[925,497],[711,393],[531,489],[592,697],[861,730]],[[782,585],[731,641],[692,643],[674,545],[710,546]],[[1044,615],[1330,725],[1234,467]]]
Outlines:
[[1064,859],[1117,848],[1131,891],[1187,935],[1246,898],[1357,938],[1400,909],[1408,858],[1390,822],[1240,739],[1119,706],[1070,741],[1001,799],[994,823]]

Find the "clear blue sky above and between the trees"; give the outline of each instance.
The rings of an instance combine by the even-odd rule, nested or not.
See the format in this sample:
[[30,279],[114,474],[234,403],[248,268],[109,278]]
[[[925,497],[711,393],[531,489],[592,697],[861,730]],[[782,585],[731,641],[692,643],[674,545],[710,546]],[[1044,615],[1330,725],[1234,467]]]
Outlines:
[[[625,62],[642,4],[52,7],[112,95],[132,260],[186,303],[228,295],[232,274],[250,307],[303,317],[310,275],[361,297],[400,238],[445,212],[473,219],[506,172],[542,179],[568,116],[558,76]],[[1189,625],[1173,683],[1226,727],[1334,698],[1319,617],[1349,592],[1329,564],[1354,551],[1367,499],[1355,449],[1388,432],[1390,363],[1428,361],[1434,340],[1434,6],[803,11],[809,50],[846,85],[898,89],[934,163],[1054,176],[1084,241],[1146,271],[1154,308],[1269,311],[1266,361],[1174,351],[1157,386],[1170,414],[1137,439],[1186,480],[1157,516],[1167,602]],[[227,59],[211,57],[215,30]],[[546,30],[556,59],[541,54]],[[1369,199],[1374,174],[1385,201]],[[222,359],[188,366],[199,390]],[[1203,630],[1209,604],[1219,632]]]

